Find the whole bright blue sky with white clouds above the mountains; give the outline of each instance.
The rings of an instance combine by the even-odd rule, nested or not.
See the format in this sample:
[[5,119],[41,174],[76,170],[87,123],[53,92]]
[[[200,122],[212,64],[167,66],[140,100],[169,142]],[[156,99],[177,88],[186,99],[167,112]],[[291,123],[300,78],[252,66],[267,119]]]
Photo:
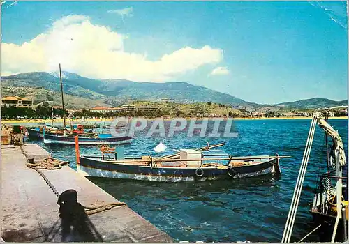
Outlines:
[[1,75],[188,82],[248,102],[348,98],[339,2],[1,2]]

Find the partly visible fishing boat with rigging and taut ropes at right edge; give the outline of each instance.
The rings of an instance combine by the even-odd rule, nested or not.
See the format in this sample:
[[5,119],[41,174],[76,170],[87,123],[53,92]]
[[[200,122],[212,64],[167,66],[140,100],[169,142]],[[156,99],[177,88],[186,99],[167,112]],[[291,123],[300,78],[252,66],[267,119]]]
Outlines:
[[[290,242],[292,235],[316,124],[318,124],[322,130],[325,130],[325,148],[327,156],[326,159],[322,161],[327,162],[327,171],[318,176],[313,203],[309,210],[311,215],[313,215],[315,229],[304,236],[299,242],[303,241],[315,231],[318,233],[320,241],[323,242],[331,241],[334,243],[334,241],[348,241],[348,167],[346,163],[346,153],[338,131],[334,130],[334,128],[327,123],[329,112],[334,109],[343,109],[345,107],[347,106],[316,109],[313,113],[306,148],[304,150],[304,158],[299,169],[295,192],[290,206],[290,213],[288,214],[288,220],[285,224],[283,239],[281,241],[283,243]],[[327,137],[332,138],[333,145],[331,147],[328,146]]]

